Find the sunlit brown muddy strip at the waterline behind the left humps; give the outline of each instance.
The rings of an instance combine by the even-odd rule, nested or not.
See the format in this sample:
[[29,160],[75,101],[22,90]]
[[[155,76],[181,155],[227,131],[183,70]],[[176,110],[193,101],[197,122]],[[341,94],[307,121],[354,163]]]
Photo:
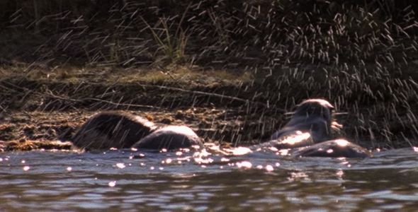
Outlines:
[[[213,109],[193,107],[187,110],[124,110],[130,114],[146,117],[157,125],[190,126],[206,142],[227,146],[259,143],[272,133],[259,129],[275,123],[276,119],[261,123],[256,118],[249,120],[239,109]],[[68,141],[95,112],[11,112],[1,117],[0,148],[3,151],[30,151],[37,149],[72,149]],[[264,119],[267,120],[267,119]],[[249,133],[244,133],[247,131]]]

